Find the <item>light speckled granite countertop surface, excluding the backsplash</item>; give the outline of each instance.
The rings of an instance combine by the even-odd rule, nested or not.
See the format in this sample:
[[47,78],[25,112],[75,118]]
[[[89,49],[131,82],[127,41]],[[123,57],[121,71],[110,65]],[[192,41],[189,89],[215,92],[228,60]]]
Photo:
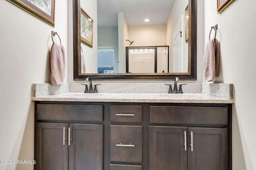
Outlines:
[[139,102],[139,103],[217,103],[230,104],[233,100],[208,94],[163,93],[62,93],[34,97],[34,101],[60,102]]

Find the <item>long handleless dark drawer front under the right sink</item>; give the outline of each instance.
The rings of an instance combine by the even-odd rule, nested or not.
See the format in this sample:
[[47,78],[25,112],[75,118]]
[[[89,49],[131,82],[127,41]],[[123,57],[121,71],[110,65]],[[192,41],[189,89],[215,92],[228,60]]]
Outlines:
[[228,125],[228,107],[150,106],[150,123]]

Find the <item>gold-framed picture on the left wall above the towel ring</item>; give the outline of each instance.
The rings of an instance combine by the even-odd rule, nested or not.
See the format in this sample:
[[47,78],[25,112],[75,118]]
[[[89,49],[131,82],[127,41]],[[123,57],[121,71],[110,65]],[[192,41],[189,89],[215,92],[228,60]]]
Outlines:
[[54,27],[55,0],[8,0]]

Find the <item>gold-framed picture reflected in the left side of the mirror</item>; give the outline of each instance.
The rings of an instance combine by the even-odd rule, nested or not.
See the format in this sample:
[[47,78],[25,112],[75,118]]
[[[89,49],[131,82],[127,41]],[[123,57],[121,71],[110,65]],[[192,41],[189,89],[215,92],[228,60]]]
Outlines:
[[93,20],[81,8],[81,42],[92,48]]

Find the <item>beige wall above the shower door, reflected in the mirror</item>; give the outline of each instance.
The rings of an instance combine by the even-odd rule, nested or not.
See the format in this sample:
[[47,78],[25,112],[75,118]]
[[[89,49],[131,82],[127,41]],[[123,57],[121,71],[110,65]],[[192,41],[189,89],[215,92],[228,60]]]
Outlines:
[[[166,25],[128,26],[128,39],[131,46],[161,46],[166,43]],[[126,42],[130,46],[130,42]]]

